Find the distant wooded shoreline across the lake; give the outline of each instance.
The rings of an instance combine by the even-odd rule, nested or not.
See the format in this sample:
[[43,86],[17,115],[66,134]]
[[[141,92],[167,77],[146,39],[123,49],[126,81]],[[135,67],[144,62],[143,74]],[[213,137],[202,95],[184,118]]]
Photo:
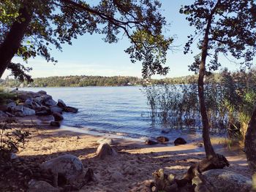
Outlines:
[[[250,69],[248,72],[227,72],[223,69],[220,73],[209,74],[205,78],[206,83],[221,83],[223,73],[230,74],[235,80],[249,79],[255,82],[256,69]],[[127,85],[176,85],[176,84],[194,84],[197,83],[197,74],[183,77],[167,77],[164,79],[142,79],[139,77],[103,77],[103,76],[55,76],[35,78],[34,82],[20,82],[7,77],[0,80],[0,85],[5,87],[86,87],[86,86],[127,86]],[[249,82],[248,81],[248,82]]]

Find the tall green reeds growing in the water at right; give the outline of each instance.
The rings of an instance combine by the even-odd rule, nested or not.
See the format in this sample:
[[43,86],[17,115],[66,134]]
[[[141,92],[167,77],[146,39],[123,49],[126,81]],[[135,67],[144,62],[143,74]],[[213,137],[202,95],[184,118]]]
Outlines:
[[[211,131],[227,131],[230,136],[245,137],[256,104],[255,72],[224,70],[220,79],[207,82],[205,99]],[[150,85],[143,88],[148,99],[151,120],[170,128],[202,126],[197,85]]]

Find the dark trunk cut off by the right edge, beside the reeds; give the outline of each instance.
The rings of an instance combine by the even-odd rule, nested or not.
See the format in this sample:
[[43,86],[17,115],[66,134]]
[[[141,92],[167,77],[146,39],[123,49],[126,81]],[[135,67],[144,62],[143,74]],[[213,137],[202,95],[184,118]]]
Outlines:
[[256,107],[246,131],[244,150],[249,167],[256,170]]

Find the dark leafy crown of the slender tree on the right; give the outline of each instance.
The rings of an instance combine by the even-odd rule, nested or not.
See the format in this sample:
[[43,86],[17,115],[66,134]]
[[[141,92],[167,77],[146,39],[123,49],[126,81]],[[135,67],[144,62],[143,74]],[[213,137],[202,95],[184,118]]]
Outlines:
[[[208,57],[211,60],[207,64],[206,72],[219,69],[220,53],[233,63],[252,66],[256,54],[256,23],[252,15],[253,4],[253,0],[197,0],[194,4],[182,7],[180,12],[187,15],[186,19],[190,26],[195,26],[195,33],[188,36],[189,41],[185,45],[184,53],[192,52],[190,47],[193,42],[197,42],[199,49],[202,48],[203,35],[212,13],[211,28],[208,34]],[[212,12],[215,6],[216,10]],[[198,57],[195,61],[198,61]],[[191,70],[196,71],[198,66],[199,62],[195,62]]]

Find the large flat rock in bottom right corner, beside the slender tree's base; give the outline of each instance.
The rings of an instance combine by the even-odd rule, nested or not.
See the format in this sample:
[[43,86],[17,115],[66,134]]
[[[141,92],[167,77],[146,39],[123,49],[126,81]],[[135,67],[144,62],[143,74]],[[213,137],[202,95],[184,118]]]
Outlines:
[[[252,188],[252,180],[249,177],[225,169],[211,169],[203,172],[203,176],[207,183],[211,183],[215,190],[219,192],[246,192]],[[192,182],[195,183],[195,180],[197,180],[197,177]]]

